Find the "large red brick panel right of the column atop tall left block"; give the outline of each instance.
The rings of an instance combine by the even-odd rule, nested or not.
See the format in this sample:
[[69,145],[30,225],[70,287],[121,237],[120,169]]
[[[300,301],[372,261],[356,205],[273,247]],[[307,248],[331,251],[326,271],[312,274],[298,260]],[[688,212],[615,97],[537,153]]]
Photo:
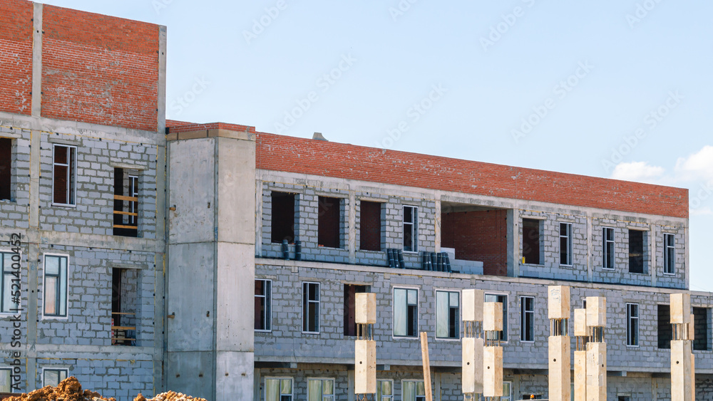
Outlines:
[[158,25],[44,6],[43,30],[43,117],[157,129]]

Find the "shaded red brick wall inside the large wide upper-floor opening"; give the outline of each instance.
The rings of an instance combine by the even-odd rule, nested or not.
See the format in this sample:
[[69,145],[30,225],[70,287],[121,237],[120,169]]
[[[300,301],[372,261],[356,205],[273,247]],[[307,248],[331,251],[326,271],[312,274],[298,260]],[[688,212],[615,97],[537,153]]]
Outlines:
[[483,274],[508,275],[505,210],[441,214],[441,246],[456,249],[456,259],[483,262]]

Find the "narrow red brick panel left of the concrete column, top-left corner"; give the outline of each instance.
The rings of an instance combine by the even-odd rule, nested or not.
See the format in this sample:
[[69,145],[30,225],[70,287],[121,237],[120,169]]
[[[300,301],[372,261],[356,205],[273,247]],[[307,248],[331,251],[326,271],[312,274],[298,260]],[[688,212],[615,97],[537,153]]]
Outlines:
[[32,3],[0,1],[0,110],[32,110]]

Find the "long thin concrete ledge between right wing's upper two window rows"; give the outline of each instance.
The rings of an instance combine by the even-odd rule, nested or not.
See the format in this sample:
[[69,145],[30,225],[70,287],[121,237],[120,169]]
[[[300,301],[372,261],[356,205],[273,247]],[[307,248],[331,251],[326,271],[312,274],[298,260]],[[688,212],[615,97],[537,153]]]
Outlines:
[[[520,278],[503,276],[485,276],[480,274],[445,273],[442,271],[426,271],[416,269],[392,269],[389,267],[367,266],[361,264],[339,264],[317,261],[294,261],[271,258],[255,258],[255,266],[285,266],[307,269],[329,269],[339,271],[363,271],[366,273],[394,274],[396,276],[418,276],[418,277],[449,277],[460,280],[489,281],[493,283],[523,283],[540,284],[542,286],[569,285],[578,288],[609,289],[615,291],[647,291],[651,293],[679,293],[686,291],[675,288],[658,288],[646,286],[630,286],[609,283],[585,283],[582,281],[550,280],[545,278]],[[689,291],[692,295],[709,296],[710,293],[703,291]]]

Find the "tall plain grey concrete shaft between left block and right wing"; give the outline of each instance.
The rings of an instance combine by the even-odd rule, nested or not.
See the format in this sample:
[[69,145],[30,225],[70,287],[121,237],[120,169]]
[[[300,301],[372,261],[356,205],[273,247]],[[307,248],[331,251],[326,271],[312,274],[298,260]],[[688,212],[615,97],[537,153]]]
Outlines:
[[255,137],[188,132],[168,149],[167,384],[249,400],[255,320],[252,308],[235,306],[254,301]]

